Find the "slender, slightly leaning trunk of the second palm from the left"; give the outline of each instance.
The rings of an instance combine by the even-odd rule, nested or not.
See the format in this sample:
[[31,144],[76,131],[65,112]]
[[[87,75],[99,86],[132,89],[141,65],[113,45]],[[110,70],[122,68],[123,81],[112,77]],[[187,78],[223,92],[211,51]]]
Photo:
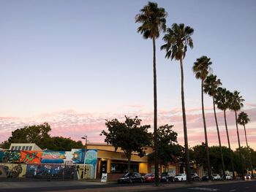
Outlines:
[[183,127],[184,127],[184,142],[185,142],[185,157],[186,157],[186,174],[187,181],[191,180],[189,172],[189,143],[187,138],[187,120],[186,120],[186,109],[184,99],[184,72],[183,72],[183,61],[180,58],[181,65],[181,105],[182,105],[182,116],[183,116]]

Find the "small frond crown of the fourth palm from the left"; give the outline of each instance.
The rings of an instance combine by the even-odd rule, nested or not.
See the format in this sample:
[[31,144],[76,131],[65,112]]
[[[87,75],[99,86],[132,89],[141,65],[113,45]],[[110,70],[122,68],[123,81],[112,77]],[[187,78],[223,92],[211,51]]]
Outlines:
[[220,80],[217,79],[216,75],[210,74],[208,77],[206,77],[204,91],[205,93],[208,93],[209,96],[215,97],[219,85],[222,85],[222,82],[220,82]]

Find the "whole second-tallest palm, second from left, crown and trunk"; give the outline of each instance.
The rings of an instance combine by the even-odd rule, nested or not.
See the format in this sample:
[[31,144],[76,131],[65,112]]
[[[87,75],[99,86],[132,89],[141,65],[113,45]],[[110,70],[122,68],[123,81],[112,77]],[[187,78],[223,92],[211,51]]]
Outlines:
[[171,28],[167,28],[167,34],[162,39],[165,41],[165,45],[161,46],[161,50],[166,50],[165,58],[175,58],[180,61],[181,66],[181,104],[182,104],[182,116],[184,126],[184,143],[185,143],[185,156],[186,156],[186,172],[187,180],[191,180],[189,172],[189,145],[187,139],[187,120],[185,110],[185,99],[184,99],[184,72],[183,72],[183,59],[187,52],[187,45],[190,48],[193,47],[192,34],[194,29],[189,26],[184,26],[183,23],[173,23]]

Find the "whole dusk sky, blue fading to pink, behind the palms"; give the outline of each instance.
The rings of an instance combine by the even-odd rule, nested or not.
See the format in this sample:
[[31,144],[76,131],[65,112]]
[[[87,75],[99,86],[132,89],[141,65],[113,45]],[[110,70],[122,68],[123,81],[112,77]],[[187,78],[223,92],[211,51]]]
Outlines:
[[[222,87],[239,91],[249,146],[256,150],[256,1],[155,1],[167,27],[194,28],[194,48],[184,58],[189,147],[204,142],[200,80],[192,65],[211,58]],[[148,1],[0,0],[0,142],[24,126],[48,122],[51,136],[104,142],[105,120],[124,115],[153,128],[152,41],[137,33],[135,15]],[[181,72],[157,39],[158,126],[173,125],[184,145]],[[208,144],[218,145],[212,99],[205,95]],[[227,136],[217,110],[222,145]],[[231,147],[238,147],[234,112],[227,112]],[[244,128],[238,126],[241,145]],[[84,141],[83,141],[84,142]]]

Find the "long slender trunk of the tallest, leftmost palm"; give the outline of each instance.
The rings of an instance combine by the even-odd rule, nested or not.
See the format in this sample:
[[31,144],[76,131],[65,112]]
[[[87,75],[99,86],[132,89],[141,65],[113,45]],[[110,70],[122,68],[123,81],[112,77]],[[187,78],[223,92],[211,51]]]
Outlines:
[[157,143],[157,66],[156,66],[156,39],[153,37],[153,71],[154,71],[154,175],[155,183],[159,185],[158,170],[158,143]]

